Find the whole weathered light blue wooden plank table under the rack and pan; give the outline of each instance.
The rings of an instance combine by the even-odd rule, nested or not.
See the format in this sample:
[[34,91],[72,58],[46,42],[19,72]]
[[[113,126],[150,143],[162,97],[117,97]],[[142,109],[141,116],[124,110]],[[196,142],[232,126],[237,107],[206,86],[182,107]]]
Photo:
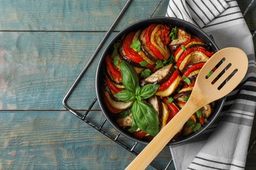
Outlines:
[[[241,8],[249,2],[240,3]],[[135,158],[62,105],[125,3],[0,0],[0,169],[124,169]],[[157,3],[133,1],[107,42],[127,25],[148,18]],[[163,1],[154,16],[164,16],[167,4]],[[255,17],[251,20],[253,27]],[[68,100],[79,112],[96,97],[100,53]],[[89,119],[96,125],[104,120],[98,103]],[[170,158],[166,147],[156,162],[165,167]],[[255,158],[254,147],[247,167],[256,165]]]

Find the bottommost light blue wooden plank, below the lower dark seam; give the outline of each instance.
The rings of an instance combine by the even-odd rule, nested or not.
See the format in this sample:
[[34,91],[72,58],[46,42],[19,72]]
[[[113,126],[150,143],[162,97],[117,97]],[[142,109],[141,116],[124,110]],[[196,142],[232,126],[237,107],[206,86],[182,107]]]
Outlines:
[[[0,112],[0,122],[0,169],[124,169],[135,158],[68,111]],[[156,161],[165,167],[169,147]]]

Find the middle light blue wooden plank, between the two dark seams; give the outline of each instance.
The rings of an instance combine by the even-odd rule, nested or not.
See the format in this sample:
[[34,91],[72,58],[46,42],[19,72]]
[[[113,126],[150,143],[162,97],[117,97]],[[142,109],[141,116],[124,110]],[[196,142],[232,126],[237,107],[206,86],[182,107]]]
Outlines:
[[[63,109],[64,95],[103,36],[104,33],[1,33],[0,109]],[[96,96],[98,59],[99,56],[77,88],[77,109],[85,109]]]

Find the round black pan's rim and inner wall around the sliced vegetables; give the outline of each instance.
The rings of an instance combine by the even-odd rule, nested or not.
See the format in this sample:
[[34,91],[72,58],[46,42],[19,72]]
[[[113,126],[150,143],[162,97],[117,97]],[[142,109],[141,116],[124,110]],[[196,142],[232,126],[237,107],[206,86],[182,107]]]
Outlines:
[[[149,141],[146,141],[145,139],[137,139],[133,135],[131,135],[129,132],[125,131],[121,127],[117,126],[116,122],[114,121],[114,117],[112,116],[113,114],[106,108],[104,101],[102,99],[102,85],[104,84],[104,67],[105,67],[105,60],[104,58],[110,54],[113,50],[114,43],[117,42],[117,40],[121,39],[121,37],[127,33],[130,33],[132,31],[137,31],[138,29],[142,29],[144,27],[147,27],[150,24],[167,24],[167,25],[174,25],[177,27],[182,27],[187,31],[188,33],[191,33],[192,35],[196,35],[200,39],[202,39],[208,46],[211,48],[213,52],[217,52],[219,49],[216,46],[215,42],[213,42],[213,39],[209,37],[205,32],[202,31],[199,27],[196,27],[193,24],[190,24],[189,22],[186,22],[184,20],[180,20],[177,18],[169,18],[169,17],[160,17],[160,18],[148,18],[145,20],[140,20],[139,22],[136,22],[135,24],[131,24],[122,31],[120,31],[114,39],[108,44],[106,50],[104,50],[100,61],[98,63],[97,71],[96,71],[96,95],[98,97],[98,103],[100,104],[100,108],[102,109],[102,112],[104,113],[104,116],[108,119],[110,124],[117,130],[119,131],[122,135],[125,137],[137,141],[138,143],[142,144],[148,144]],[[210,90],[210,89],[209,89]],[[196,131],[195,133],[192,133],[179,141],[170,141],[167,145],[172,145],[172,144],[179,144],[183,143],[185,141],[190,141],[191,139],[194,139],[195,137],[198,137],[207,127],[209,127],[214,120],[217,118],[219,112],[221,112],[221,109],[224,105],[224,100],[219,99],[215,105],[215,110],[211,114],[211,116],[208,119],[208,122],[204,124],[200,130]]]

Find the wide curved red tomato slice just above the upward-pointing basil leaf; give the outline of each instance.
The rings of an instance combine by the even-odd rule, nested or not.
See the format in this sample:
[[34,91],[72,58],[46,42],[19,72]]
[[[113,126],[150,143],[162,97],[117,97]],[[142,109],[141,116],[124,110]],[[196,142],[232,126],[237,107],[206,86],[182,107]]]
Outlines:
[[134,61],[135,63],[140,63],[141,61],[144,61],[144,59],[140,56],[138,52],[135,52],[135,50],[130,47],[133,43],[134,35],[135,32],[131,32],[125,36],[125,38],[123,39],[123,50],[127,58],[131,59],[131,61]]

